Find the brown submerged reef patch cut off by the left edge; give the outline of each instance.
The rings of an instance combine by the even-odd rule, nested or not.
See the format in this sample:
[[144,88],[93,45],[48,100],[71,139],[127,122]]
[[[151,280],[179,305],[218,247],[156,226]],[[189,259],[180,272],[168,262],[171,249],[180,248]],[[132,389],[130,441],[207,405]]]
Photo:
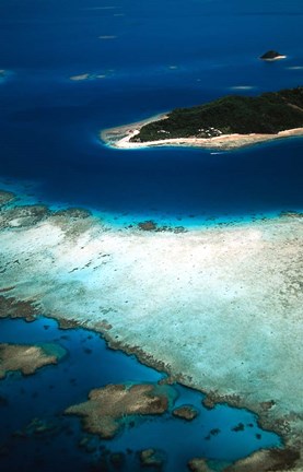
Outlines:
[[0,380],[10,371],[21,371],[26,376],[35,374],[40,367],[57,364],[63,355],[65,350],[53,344],[0,344]]

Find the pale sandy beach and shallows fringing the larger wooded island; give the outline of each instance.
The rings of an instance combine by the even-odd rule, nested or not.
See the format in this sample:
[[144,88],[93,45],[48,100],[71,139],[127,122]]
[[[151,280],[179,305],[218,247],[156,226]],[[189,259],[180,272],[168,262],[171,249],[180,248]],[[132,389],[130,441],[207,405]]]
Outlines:
[[183,148],[201,148],[220,151],[230,151],[241,148],[250,146],[258,143],[270,142],[278,139],[303,137],[303,127],[279,131],[277,134],[221,134],[213,138],[172,138],[167,140],[145,141],[142,143],[130,142],[139,134],[140,129],[150,122],[167,118],[167,114],[153,116],[147,120],[124,125],[116,128],[109,128],[101,131],[101,140],[108,146],[118,150],[136,150],[158,146],[183,146]]

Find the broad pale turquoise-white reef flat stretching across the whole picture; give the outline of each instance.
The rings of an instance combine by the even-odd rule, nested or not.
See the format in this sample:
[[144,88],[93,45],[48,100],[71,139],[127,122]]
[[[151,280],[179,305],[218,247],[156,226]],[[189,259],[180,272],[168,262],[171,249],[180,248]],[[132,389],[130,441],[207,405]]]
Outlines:
[[[284,438],[283,455],[268,456],[272,470],[302,471],[302,214],[155,232],[32,210],[32,224],[28,206],[24,224],[22,208],[18,219],[11,205],[1,210],[10,309],[22,303],[32,316],[102,332],[112,347],[206,392],[209,408],[255,411]],[[243,467],[232,471],[256,470]]]

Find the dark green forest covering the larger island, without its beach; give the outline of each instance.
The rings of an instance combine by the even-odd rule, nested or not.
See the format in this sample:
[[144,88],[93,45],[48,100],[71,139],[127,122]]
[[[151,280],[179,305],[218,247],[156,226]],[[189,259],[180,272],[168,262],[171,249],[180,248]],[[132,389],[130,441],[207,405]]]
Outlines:
[[131,138],[147,142],[172,138],[212,138],[231,133],[276,134],[303,127],[303,87],[256,97],[229,95],[191,108],[177,108]]

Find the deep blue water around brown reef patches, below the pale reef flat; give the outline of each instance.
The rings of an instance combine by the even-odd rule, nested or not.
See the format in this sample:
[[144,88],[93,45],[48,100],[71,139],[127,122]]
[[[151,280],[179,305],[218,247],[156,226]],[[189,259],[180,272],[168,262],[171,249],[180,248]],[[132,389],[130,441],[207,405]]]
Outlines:
[[[85,401],[93,388],[107,384],[156,382],[163,374],[141,365],[133,356],[107,349],[95,333],[82,329],[59,330],[55,321],[46,318],[32,323],[0,320],[2,342],[51,342],[67,350],[57,366],[44,367],[28,377],[10,374],[0,381],[0,451],[1,447],[2,452],[7,451],[0,455],[3,472],[85,472],[93,464],[98,464],[97,470],[105,470],[100,469],[104,447],[112,452],[132,451],[121,469],[125,471],[140,470],[136,452],[150,447],[165,451],[168,472],[185,471],[187,461],[194,457],[215,460],[220,469],[220,463],[245,457],[260,447],[280,445],[277,435],[258,427],[250,412],[224,404],[207,410],[201,404],[201,393],[180,385],[174,385],[174,406],[194,405],[199,415],[191,423],[174,418],[171,413],[137,417],[135,427],[126,427],[110,441],[101,440],[81,432],[78,418],[63,416],[65,409]],[[28,426],[33,418],[51,425],[50,429],[43,434],[33,432]],[[234,432],[240,423],[244,429]],[[210,433],[213,429],[217,434]],[[22,432],[22,437],[16,432]],[[89,451],[79,447],[83,438],[89,438]],[[109,465],[106,470],[115,470]]]

